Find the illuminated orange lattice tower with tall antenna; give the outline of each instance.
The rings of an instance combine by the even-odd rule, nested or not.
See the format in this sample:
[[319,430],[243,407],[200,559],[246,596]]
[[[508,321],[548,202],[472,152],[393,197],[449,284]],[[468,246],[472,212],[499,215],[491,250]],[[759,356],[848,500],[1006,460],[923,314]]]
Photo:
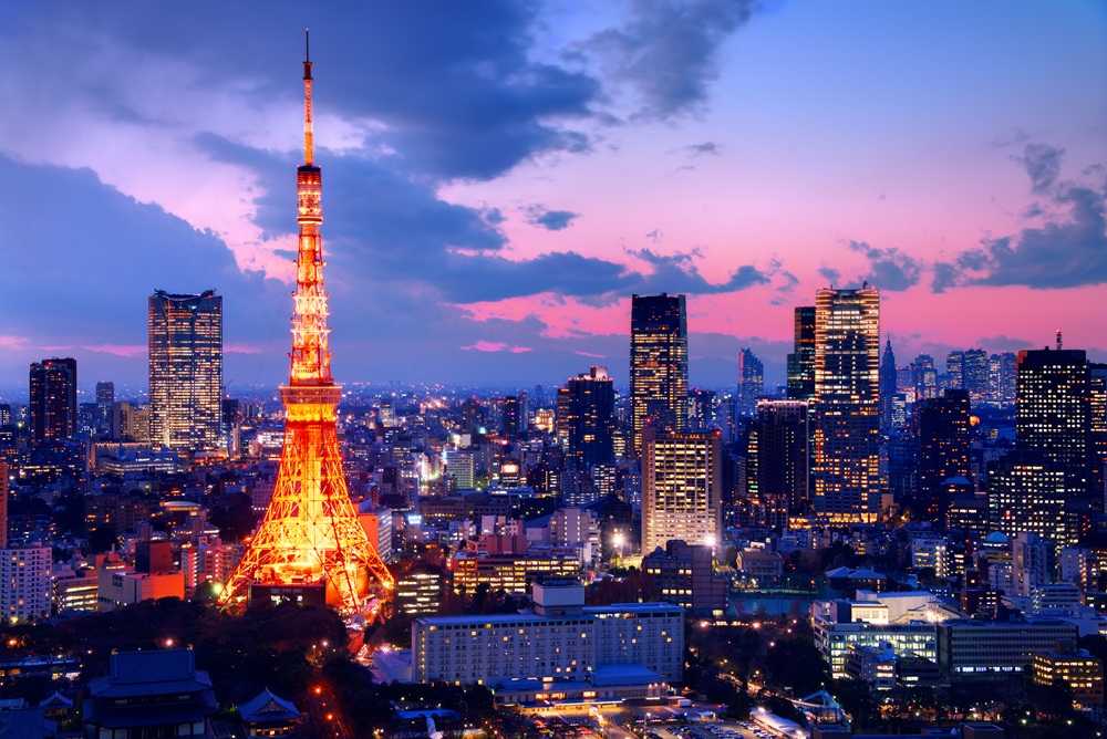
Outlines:
[[[306,54],[310,60],[310,54]],[[280,388],[284,445],[272,501],[220,603],[255,596],[319,600],[361,610],[394,581],[350,501],[339,454],[334,408],[342,388],[331,377],[323,289],[322,171],[313,164],[311,62],[303,62],[303,165],[297,168],[300,246],[296,261],[291,371]]]

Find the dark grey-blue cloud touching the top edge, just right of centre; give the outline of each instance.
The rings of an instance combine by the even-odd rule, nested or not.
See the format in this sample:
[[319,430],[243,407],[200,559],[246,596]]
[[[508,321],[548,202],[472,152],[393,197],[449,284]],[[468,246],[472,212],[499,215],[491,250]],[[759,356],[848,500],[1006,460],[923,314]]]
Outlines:
[[752,13],[746,0],[633,0],[625,22],[583,44],[609,79],[633,87],[639,114],[668,118],[703,105],[718,48]]

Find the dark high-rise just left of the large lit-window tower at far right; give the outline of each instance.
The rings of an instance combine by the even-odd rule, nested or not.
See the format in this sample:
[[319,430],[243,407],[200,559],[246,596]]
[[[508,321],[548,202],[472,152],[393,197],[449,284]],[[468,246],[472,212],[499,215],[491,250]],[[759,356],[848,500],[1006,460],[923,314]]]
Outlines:
[[950,501],[942,483],[969,477],[969,393],[948,389],[919,408],[919,498],[922,516],[945,525]]

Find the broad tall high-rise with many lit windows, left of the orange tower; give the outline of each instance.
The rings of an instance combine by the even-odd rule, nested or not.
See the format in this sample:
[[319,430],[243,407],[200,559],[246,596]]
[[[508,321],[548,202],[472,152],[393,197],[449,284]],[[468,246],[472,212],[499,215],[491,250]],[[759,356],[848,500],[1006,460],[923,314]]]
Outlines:
[[149,296],[151,440],[170,449],[219,446],[223,298],[157,290]]

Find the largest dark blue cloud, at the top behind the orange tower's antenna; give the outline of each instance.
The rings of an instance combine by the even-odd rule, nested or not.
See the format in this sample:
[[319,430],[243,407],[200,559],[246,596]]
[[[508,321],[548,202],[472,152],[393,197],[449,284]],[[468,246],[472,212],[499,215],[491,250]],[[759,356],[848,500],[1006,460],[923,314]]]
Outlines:
[[[539,153],[588,147],[573,125],[592,115],[599,83],[530,59],[537,10],[513,0],[280,0],[263,11],[228,3],[213,19],[193,6],[122,0],[110,12],[62,3],[49,18],[13,13],[0,33],[50,44],[59,67],[94,59],[97,43],[155,65],[185,62],[198,84],[230,86],[260,105],[300,97],[302,29],[310,27],[317,113],[380,124],[366,144],[394,152],[408,171],[486,179]],[[96,91],[106,115],[141,115],[130,84],[121,73]]]

